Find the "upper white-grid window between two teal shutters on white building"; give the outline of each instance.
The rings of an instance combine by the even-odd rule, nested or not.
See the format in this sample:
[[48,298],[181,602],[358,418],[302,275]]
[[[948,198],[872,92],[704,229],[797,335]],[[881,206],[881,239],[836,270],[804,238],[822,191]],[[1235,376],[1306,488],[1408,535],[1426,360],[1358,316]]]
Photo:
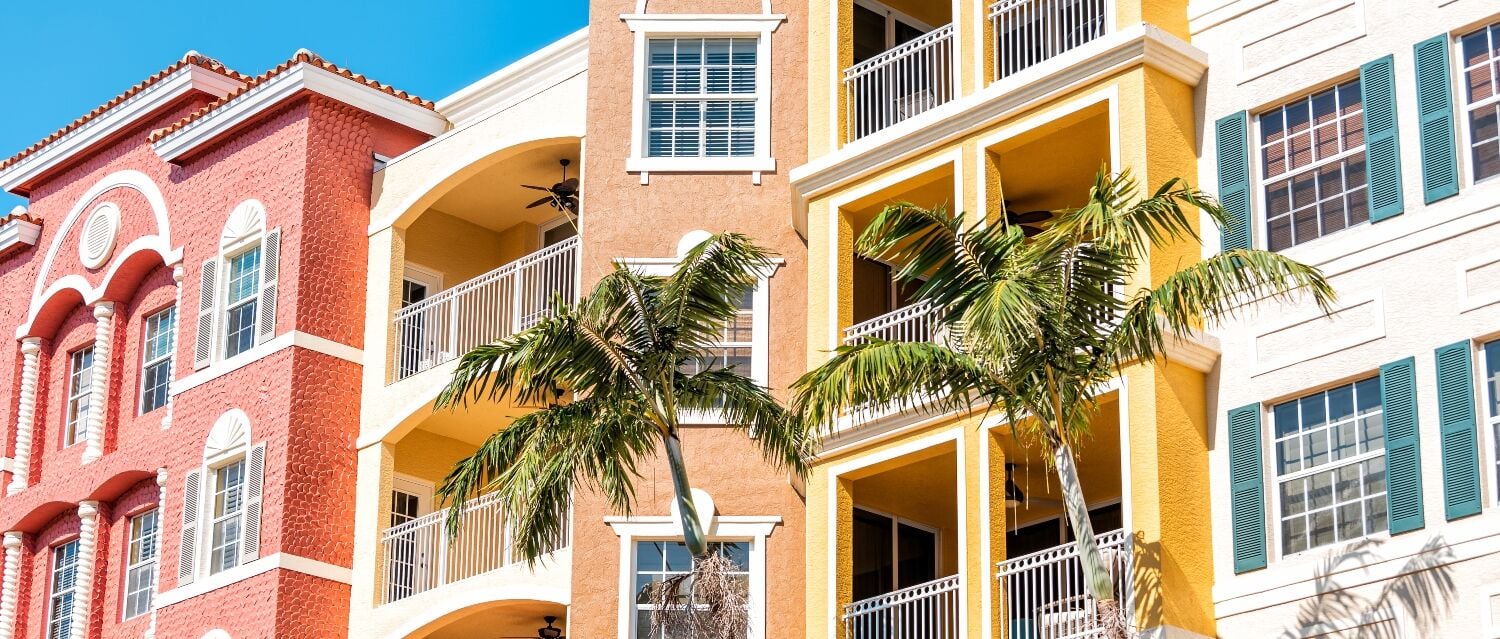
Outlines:
[[1258,122],[1270,250],[1370,220],[1359,80],[1263,112]]

